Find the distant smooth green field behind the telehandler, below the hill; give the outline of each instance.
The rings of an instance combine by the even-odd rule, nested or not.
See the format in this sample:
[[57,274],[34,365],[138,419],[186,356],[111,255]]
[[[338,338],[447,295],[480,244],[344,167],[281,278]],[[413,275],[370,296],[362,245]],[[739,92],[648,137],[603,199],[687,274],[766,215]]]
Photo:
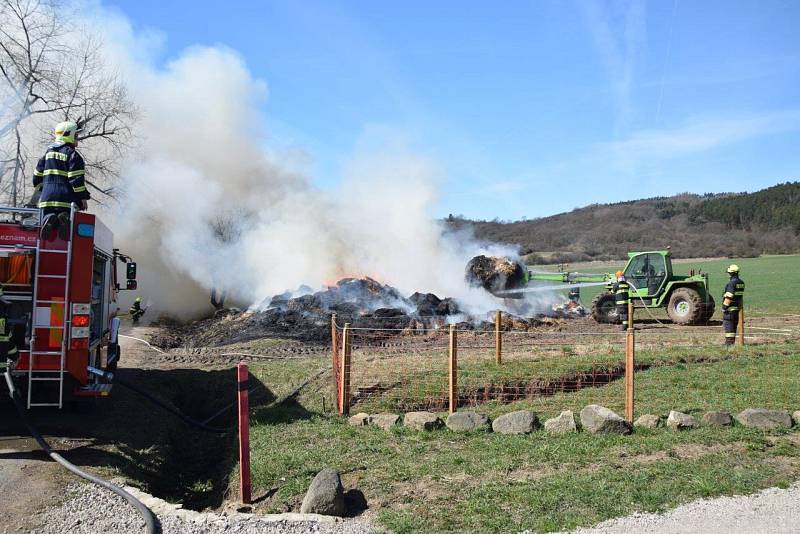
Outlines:
[[[800,256],[762,256],[760,258],[728,258],[673,260],[676,274],[688,274],[690,269],[702,269],[709,273],[711,293],[717,301],[717,313],[721,315],[719,305],[723,288],[728,281],[725,270],[731,263],[741,269],[741,277],[747,285],[745,293],[746,310],[754,315],[772,315],[776,313],[797,313],[800,310],[797,295],[800,295]],[[569,270],[585,272],[614,272],[625,267],[624,262],[580,263],[570,264]],[[538,269],[539,267],[537,267]],[[541,267],[554,270],[553,266]],[[599,293],[602,288],[587,287],[581,289],[584,303]],[[666,313],[663,314],[666,316]]]

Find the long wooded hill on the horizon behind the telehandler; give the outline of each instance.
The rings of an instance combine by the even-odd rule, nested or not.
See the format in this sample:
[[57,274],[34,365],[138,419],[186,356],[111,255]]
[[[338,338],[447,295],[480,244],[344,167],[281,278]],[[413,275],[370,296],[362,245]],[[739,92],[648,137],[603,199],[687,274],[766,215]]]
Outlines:
[[478,239],[520,246],[529,263],[612,260],[671,246],[676,257],[800,252],[800,182],[754,193],[680,194],[592,204],[515,222],[447,218]]

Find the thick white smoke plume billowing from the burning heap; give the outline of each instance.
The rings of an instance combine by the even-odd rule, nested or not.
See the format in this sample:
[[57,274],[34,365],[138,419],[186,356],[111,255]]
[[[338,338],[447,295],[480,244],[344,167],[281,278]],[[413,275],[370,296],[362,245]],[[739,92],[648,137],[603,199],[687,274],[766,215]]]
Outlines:
[[266,85],[235,51],[197,46],[157,65],[152,36],[97,12],[108,57],[141,111],[111,222],[154,312],[208,311],[213,287],[250,305],[362,275],[406,294],[454,296],[474,311],[497,307],[463,281],[469,258],[487,251],[435,219],[444,178],[435,162],[370,144],[338,190],[322,192],[267,150]]

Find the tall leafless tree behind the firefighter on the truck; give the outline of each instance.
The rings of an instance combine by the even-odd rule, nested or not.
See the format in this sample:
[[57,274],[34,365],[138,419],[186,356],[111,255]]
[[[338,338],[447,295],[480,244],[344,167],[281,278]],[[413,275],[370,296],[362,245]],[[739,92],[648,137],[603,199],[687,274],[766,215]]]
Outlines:
[[[95,199],[114,196],[136,110],[101,43],[58,0],[0,0],[0,199],[25,202],[38,152],[63,120],[80,120]],[[99,198],[98,198],[99,197]]]

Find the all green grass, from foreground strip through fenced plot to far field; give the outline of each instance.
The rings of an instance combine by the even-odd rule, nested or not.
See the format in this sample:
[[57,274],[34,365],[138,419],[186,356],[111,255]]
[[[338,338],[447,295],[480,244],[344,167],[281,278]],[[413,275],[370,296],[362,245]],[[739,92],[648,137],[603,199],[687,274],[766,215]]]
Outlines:
[[[681,261],[675,269],[710,272],[716,296],[722,293],[724,271],[732,262],[740,265],[747,283],[749,317],[797,311],[800,256]],[[606,271],[614,266],[592,268]],[[591,289],[584,293],[585,301]],[[796,330],[796,322],[779,319],[756,324]],[[796,335],[769,338],[762,334],[767,331],[749,330],[748,336],[755,337],[749,341],[756,343],[731,351],[719,347],[718,328],[638,334],[637,363],[649,368],[636,373],[636,415],[666,416],[672,409],[695,415],[707,410],[736,413],[747,407],[800,409],[800,341]],[[540,334],[504,338],[502,366],[493,363],[491,349],[479,347],[485,340],[464,334],[462,344],[460,334],[460,393],[521,378],[558,381],[622,361],[621,343],[611,340],[612,335],[569,335],[548,344],[547,336]],[[531,346],[524,347],[525,342]],[[353,392],[376,383],[392,387],[359,401],[353,411],[396,410],[426,395],[443,396],[446,364],[441,344],[397,354],[357,348]],[[252,370],[280,398],[329,368],[326,355],[254,364]],[[420,433],[402,427],[386,432],[351,427],[335,416],[330,382],[326,373],[297,398],[254,411],[254,494],[264,497],[259,511],[299,509],[308,484],[324,467],[341,472],[346,488],[363,491],[379,524],[396,532],[566,530],[635,511],[663,511],[699,497],[786,487],[800,478],[796,430],[762,432],[737,425],[686,432],[639,429],[631,436],[554,436],[541,431],[506,436],[446,429]],[[602,404],[621,413],[623,386],[622,380],[615,380],[602,387],[509,404],[491,401],[470,409],[490,417],[531,409],[544,419],[565,409],[577,414],[587,404]]]

